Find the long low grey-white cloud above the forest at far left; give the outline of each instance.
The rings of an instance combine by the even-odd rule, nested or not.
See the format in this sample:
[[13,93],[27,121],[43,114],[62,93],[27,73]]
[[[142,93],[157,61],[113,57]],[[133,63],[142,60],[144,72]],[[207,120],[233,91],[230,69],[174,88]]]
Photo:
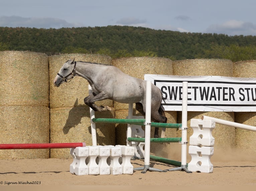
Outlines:
[[62,27],[82,27],[82,24],[68,23],[57,18],[25,18],[19,16],[0,17],[1,27],[30,27],[30,28],[62,28]]

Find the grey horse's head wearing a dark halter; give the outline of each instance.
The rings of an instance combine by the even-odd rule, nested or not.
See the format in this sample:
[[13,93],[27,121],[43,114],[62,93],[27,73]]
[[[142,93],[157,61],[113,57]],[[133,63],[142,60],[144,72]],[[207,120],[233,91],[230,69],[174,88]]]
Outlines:
[[74,78],[74,72],[76,70],[77,64],[74,61],[75,59],[73,61],[70,59],[63,64],[63,66],[59,70],[59,73],[53,80],[54,86],[59,87],[60,84],[62,84],[63,82],[70,82]]

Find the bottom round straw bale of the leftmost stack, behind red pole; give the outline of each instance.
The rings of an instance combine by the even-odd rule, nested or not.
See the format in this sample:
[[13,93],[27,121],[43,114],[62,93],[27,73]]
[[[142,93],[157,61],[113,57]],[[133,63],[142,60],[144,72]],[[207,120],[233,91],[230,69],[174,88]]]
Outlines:
[[[0,106],[0,142],[49,143],[49,108]],[[0,150],[0,159],[49,158],[49,149]]]

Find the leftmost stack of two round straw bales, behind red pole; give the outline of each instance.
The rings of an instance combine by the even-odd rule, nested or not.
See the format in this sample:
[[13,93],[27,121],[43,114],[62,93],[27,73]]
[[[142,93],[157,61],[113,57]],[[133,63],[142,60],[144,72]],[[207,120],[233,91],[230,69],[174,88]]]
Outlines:
[[[0,143],[49,143],[47,55],[0,52]],[[49,158],[49,149],[0,150],[0,158]]]

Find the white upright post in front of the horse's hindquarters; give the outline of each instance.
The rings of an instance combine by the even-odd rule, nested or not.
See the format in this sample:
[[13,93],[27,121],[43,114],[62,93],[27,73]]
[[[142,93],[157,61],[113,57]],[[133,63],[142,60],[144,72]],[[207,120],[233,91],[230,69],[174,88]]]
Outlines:
[[144,170],[149,169],[149,165],[150,165],[150,130],[151,130],[151,82],[147,81]]

